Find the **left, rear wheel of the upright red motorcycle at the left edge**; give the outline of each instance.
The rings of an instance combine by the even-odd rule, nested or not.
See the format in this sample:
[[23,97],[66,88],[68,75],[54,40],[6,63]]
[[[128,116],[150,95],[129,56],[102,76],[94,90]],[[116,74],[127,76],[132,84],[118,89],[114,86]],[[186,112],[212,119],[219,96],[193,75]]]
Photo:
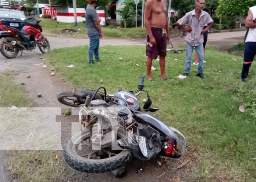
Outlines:
[[[11,37],[5,37],[5,40],[6,40],[7,44],[8,44],[10,47],[12,47],[12,49],[10,49],[10,47],[8,47],[8,46],[6,45],[6,43],[3,44],[3,46],[2,46],[2,48],[1,48],[1,50],[0,50],[1,53],[2,53],[2,55],[3,55],[4,57],[8,58],[8,59],[11,59],[11,58],[16,57],[16,56],[18,55],[18,53],[19,53],[19,49],[18,49],[16,46],[12,46],[12,45],[11,45],[11,41],[15,41],[15,39],[14,39],[14,38],[11,38]],[[8,52],[9,52],[10,54],[8,54]]]

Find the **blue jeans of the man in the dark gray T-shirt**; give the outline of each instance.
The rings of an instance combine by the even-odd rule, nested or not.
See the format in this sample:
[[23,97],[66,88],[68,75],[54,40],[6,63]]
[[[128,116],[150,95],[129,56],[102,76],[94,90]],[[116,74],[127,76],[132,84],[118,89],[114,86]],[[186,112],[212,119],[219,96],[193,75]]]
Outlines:
[[89,63],[93,63],[93,53],[95,55],[95,59],[100,61],[99,55],[99,46],[100,46],[100,35],[88,35],[90,38],[90,46],[89,46]]

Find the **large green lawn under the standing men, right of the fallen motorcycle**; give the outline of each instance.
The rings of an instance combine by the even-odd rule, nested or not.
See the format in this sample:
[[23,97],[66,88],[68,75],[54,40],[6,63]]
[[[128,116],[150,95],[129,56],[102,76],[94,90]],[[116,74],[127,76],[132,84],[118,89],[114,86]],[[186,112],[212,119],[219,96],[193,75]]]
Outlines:
[[[72,85],[86,89],[104,86],[109,94],[116,93],[119,87],[136,90],[141,75],[146,75],[145,46],[100,47],[102,62],[94,65],[88,63],[86,46],[54,49],[46,56],[48,64]],[[167,53],[166,74],[174,81],[161,80],[159,62],[153,60],[157,68],[152,71],[155,82],[145,81],[145,90],[153,101],[152,107],[160,108],[154,114],[180,130],[187,144],[196,148],[185,156],[198,159],[189,165],[191,178],[255,181],[256,163],[251,160],[256,157],[255,67],[250,68],[249,81],[242,83],[242,57],[207,47],[207,78],[196,77],[197,68],[192,65],[189,77],[180,80],[175,77],[184,73],[184,60],[185,52]],[[70,64],[75,67],[67,68]],[[145,98],[145,94],[139,96],[141,101]],[[240,112],[239,105],[245,105],[246,111]]]

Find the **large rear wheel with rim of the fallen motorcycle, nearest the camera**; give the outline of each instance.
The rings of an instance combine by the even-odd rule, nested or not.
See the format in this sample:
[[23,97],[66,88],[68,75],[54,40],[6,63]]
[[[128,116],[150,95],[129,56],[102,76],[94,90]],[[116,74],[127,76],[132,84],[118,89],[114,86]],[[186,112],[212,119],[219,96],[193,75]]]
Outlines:
[[[117,137],[122,137],[117,134]],[[88,173],[101,173],[116,170],[132,159],[129,150],[114,151],[104,148],[93,151],[90,138],[90,129],[82,130],[74,135],[64,149],[64,158],[76,170]]]

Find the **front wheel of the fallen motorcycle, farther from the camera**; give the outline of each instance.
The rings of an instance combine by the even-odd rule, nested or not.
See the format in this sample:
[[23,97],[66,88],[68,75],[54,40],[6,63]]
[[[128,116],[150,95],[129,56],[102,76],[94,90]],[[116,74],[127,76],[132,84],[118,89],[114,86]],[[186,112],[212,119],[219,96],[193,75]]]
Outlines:
[[83,101],[80,98],[75,97],[71,91],[61,92],[58,94],[57,99],[61,104],[68,105],[70,107],[79,107],[80,104],[83,104]]

